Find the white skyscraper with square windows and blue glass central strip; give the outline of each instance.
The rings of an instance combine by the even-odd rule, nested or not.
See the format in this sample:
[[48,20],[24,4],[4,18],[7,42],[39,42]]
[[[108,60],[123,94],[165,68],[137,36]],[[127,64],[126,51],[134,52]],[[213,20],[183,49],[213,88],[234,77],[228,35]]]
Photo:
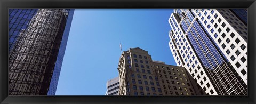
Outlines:
[[173,57],[209,95],[247,95],[247,20],[237,15],[235,9],[174,9],[170,16]]

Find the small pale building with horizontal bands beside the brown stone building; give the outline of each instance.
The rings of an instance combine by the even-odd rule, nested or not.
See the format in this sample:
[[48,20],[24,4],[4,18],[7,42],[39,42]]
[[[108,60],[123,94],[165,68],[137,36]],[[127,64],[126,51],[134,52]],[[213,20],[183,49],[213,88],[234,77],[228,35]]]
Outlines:
[[107,91],[105,95],[118,95],[119,91],[119,77],[110,79],[107,82]]

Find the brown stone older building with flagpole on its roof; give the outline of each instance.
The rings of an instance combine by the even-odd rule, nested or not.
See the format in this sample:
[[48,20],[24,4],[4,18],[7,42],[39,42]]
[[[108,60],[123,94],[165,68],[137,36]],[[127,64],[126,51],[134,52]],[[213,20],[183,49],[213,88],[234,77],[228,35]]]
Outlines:
[[205,95],[201,87],[194,87],[185,68],[153,61],[140,48],[122,53],[118,71],[119,95]]

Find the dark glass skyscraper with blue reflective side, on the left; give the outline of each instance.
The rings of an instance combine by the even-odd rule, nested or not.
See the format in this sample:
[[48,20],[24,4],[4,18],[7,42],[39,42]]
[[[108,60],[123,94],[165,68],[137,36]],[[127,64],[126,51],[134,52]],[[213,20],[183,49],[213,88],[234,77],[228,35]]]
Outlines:
[[74,9],[9,9],[9,95],[54,95]]

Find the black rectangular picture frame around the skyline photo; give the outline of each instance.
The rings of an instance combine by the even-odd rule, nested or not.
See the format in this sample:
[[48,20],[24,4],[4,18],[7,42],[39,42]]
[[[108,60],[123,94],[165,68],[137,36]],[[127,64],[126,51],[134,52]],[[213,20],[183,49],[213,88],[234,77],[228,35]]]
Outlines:
[[[1,0],[0,103],[256,103],[255,0]],[[9,8],[248,8],[248,96],[8,96]],[[170,53],[171,54],[171,53]]]

